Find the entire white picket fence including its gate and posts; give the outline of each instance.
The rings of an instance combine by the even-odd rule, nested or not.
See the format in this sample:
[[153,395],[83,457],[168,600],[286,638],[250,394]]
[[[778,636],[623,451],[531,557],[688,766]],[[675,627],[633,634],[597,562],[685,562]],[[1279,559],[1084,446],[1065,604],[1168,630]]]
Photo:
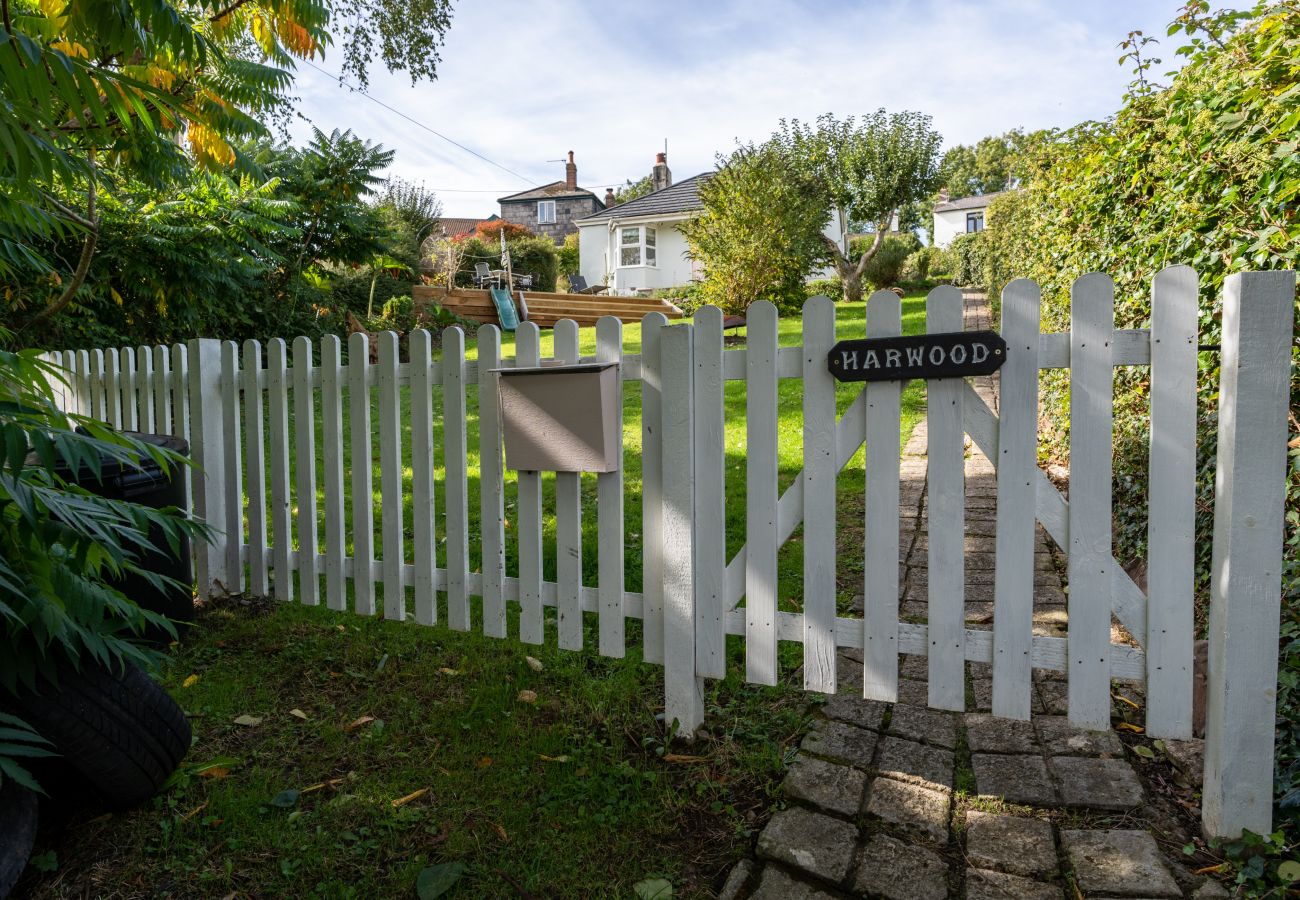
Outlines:
[[[1275,640],[1280,597],[1282,497],[1292,273],[1232,276],[1225,293],[1219,393],[1218,481],[1204,821],[1210,834],[1270,826]],[[556,580],[543,579],[542,481],[519,472],[512,527],[519,564],[506,567],[506,472],[493,368],[537,365],[538,329],[525,323],[515,356],[485,325],[477,359],[467,360],[458,328],[410,336],[410,363],[398,337],[378,336],[369,363],[364,334],[337,338],[313,362],[308,338],[191,341],[187,346],[77,351],[68,408],[110,424],[187,437],[202,467],[194,473],[196,515],[224,537],[196,554],[200,592],[273,592],[281,600],[348,606],[389,619],[413,613],[458,631],[506,637],[512,619],[525,644],[546,640],[545,610],[556,611],[556,641],[578,650],[584,614],[598,624],[598,650],[621,657],[625,622],[642,622],[644,658],[664,666],[666,713],[689,735],[703,721],[703,679],[725,675],[725,639],[741,636],[745,676],[775,684],[777,646],[803,646],[803,684],[833,692],[836,650],[863,655],[863,695],[893,701],[898,655],[928,657],[930,704],[965,708],[966,663],[992,667],[993,713],[1027,719],[1032,672],[1065,672],[1069,715],[1089,728],[1110,726],[1112,680],[1141,683],[1147,734],[1183,739],[1192,730],[1193,516],[1196,473],[1197,277],[1186,267],[1160,273],[1150,329],[1115,330],[1113,284],[1079,278],[1069,333],[1040,333],[1039,289],[1011,282],[1002,295],[1008,359],[1000,373],[1000,415],[970,384],[933,380],[928,391],[928,620],[900,622],[900,382],[868,382],[842,415],[827,355],[838,338],[835,304],[803,308],[801,347],[779,347],[777,312],[749,310],[745,349],[725,350],[722,313],[701,310],[692,324],[645,317],[641,354],[623,351],[623,326],[597,325],[594,359],[620,363],[624,382],[641,385],[642,589],[625,588],[624,476],[597,476],[595,584],[582,581],[580,476],[555,479]],[[896,294],[867,303],[866,337],[901,333]],[[927,299],[932,333],[962,329],[962,297],[939,287]],[[554,359],[580,358],[578,328],[562,321]],[[1144,593],[1112,555],[1112,407],[1115,367],[1150,372],[1149,559]],[[1037,386],[1043,369],[1070,369],[1070,501],[1037,467]],[[779,493],[777,384],[802,380],[803,470]],[[745,382],[746,544],[725,546],[724,385]],[[480,544],[471,559],[467,386],[478,386]],[[433,398],[441,394],[442,446],[434,446]],[[344,395],[347,416],[344,416]],[[406,398],[408,407],[404,406]],[[377,434],[372,404],[378,410]],[[320,471],[316,453],[321,424]],[[265,425],[264,425],[265,423]],[[264,434],[264,427],[269,433]],[[620,423],[621,432],[621,423]],[[993,628],[965,623],[963,434],[997,468]],[[374,490],[372,446],[380,455]],[[403,442],[410,443],[413,512],[403,532]],[[864,616],[836,609],[836,476],[866,443]],[[434,457],[443,463],[436,496]],[[351,464],[346,464],[350,455]],[[292,464],[291,464],[292,460]],[[266,479],[270,479],[268,496]],[[324,497],[318,533],[317,485]],[[346,503],[351,503],[351,523]],[[268,503],[269,499],[269,503]],[[381,507],[376,546],[373,511]],[[1028,510],[1036,515],[1027,515]],[[268,515],[269,510],[269,515]],[[437,524],[445,515],[439,550]],[[1069,555],[1066,637],[1034,635],[1034,541],[1040,522]],[[777,553],[803,525],[802,613],[777,607]],[[269,532],[269,533],[268,533]],[[347,553],[351,536],[352,551]],[[324,579],[324,590],[321,588]],[[741,605],[744,601],[744,605]],[[1112,641],[1112,615],[1132,642]]]

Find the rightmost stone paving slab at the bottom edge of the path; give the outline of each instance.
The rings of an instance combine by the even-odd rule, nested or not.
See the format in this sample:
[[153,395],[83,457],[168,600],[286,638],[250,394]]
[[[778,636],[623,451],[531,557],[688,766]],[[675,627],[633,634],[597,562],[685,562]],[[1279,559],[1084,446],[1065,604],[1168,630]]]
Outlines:
[[1145,831],[1062,831],[1079,888],[1091,895],[1179,897],[1183,892]]

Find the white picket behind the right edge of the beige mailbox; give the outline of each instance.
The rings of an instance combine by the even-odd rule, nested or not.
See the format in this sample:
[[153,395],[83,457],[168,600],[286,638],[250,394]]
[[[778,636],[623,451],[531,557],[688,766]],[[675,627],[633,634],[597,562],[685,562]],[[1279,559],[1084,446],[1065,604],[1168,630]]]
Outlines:
[[[480,349],[480,354],[482,350]],[[601,362],[620,363],[618,382],[619,468],[595,476],[597,583],[601,597],[601,655],[621,659],[625,652],[623,592],[624,528],[623,528],[623,323],[615,316],[602,316],[595,323],[595,356]]]

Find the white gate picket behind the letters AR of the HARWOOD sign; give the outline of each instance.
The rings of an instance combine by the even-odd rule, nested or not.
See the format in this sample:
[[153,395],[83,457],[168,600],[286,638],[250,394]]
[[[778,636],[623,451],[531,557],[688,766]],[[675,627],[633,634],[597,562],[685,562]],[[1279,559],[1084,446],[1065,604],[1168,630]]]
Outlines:
[[[867,337],[902,333],[902,302],[879,290],[867,299]],[[898,468],[902,442],[897,381],[868,382],[866,411],[866,571],[862,696],[898,698]]]

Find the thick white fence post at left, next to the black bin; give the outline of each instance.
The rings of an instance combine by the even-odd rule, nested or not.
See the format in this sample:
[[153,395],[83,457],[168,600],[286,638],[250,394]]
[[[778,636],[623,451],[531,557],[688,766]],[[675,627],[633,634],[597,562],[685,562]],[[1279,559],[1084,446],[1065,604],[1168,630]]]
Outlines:
[[195,548],[195,577],[200,597],[224,593],[230,579],[225,567],[226,471],[225,429],[221,421],[221,342],[188,342],[190,455],[194,458],[194,516],[214,529],[211,544]]

